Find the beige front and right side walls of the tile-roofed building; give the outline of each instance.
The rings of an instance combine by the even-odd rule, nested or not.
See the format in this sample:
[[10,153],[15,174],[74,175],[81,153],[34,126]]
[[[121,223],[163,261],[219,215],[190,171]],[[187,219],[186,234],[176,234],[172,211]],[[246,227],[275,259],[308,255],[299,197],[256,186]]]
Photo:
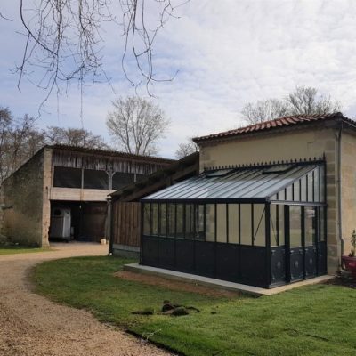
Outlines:
[[[258,164],[300,158],[325,157],[327,168],[328,272],[340,266],[341,255],[348,251],[352,229],[356,229],[356,137],[341,135],[341,160],[338,162],[336,128],[309,126],[293,131],[251,134],[229,140],[203,142],[200,146],[200,170],[206,167]],[[341,166],[342,219],[338,206],[338,165]],[[344,241],[345,240],[345,241]],[[343,251],[344,248],[344,251]]]

